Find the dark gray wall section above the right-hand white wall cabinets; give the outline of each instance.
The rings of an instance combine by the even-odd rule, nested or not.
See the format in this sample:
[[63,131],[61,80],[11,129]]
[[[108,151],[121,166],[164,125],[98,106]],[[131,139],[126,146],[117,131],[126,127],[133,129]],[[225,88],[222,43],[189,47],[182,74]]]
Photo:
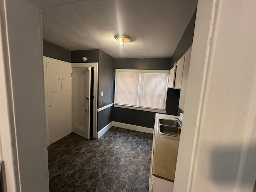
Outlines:
[[178,46],[176,47],[174,54],[172,55],[172,61],[171,61],[171,68],[174,66],[174,62],[178,61],[190,48],[190,46],[193,43],[193,37],[194,37],[194,28],[195,28],[195,22],[196,22],[196,10],[190,19],[190,22],[188,23],[188,26],[182,35],[182,38],[180,39],[180,42]]

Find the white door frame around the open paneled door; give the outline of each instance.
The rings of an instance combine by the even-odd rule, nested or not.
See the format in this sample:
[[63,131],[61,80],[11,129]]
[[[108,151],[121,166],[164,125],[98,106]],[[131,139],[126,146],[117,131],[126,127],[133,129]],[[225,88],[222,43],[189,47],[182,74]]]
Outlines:
[[[92,137],[97,138],[97,100],[98,100],[98,62],[93,63],[71,63],[71,67],[93,67],[93,120]],[[73,114],[72,114],[73,116]]]

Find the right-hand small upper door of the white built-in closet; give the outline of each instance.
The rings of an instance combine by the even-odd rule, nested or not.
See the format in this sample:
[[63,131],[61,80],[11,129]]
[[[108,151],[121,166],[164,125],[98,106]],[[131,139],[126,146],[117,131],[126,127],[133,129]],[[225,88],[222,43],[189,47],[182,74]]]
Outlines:
[[70,91],[71,90],[71,67],[60,66],[61,72],[61,90]]

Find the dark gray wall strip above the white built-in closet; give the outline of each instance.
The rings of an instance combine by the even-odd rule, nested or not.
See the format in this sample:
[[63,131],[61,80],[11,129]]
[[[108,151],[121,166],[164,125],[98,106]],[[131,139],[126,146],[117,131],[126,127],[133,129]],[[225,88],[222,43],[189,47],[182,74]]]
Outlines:
[[58,45],[52,44],[46,40],[43,40],[43,52],[44,56],[71,62],[71,51],[64,49]]

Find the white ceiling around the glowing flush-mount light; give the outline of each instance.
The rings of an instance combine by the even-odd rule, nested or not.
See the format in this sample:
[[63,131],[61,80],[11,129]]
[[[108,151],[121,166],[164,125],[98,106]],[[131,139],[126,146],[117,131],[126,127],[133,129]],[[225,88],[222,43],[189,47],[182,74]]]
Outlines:
[[[197,0],[29,0],[43,8],[43,38],[68,50],[114,58],[171,57]],[[120,47],[116,34],[132,42]]]

